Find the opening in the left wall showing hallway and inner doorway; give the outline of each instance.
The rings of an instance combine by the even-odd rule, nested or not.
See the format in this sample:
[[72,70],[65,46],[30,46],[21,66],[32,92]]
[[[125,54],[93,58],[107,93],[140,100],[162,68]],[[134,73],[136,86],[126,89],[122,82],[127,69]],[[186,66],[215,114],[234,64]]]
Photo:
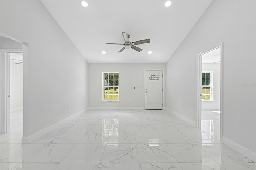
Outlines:
[[2,32],[0,39],[1,141],[28,143],[28,43]]

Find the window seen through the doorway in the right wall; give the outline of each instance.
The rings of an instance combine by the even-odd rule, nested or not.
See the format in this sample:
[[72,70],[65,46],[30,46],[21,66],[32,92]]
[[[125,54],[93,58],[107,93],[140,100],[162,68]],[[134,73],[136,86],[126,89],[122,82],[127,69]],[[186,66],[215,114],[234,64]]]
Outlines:
[[202,101],[213,101],[213,72],[202,72]]

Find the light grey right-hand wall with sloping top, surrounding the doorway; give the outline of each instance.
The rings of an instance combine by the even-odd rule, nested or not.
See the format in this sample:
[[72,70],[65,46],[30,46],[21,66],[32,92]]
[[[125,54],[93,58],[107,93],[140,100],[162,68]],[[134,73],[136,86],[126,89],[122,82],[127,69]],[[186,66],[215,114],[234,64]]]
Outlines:
[[213,1],[166,64],[166,107],[195,121],[196,54],[223,42],[223,137],[254,153],[255,5],[255,1]]

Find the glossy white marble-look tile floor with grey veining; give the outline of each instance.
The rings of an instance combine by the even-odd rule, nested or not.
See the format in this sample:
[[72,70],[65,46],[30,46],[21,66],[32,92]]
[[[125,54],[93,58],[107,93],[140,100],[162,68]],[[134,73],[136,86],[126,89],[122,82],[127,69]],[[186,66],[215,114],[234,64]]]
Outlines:
[[30,144],[1,135],[1,169],[255,169],[208,120],[201,130],[162,110],[87,111]]

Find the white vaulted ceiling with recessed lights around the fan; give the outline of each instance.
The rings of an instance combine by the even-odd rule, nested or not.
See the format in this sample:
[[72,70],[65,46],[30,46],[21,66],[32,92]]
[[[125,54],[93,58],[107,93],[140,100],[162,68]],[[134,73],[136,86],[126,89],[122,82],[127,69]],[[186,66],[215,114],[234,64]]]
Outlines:
[[[93,0],[87,8],[80,2],[42,0],[88,63],[166,63],[212,0],[176,0],[170,7],[162,0]],[[141,52],[117,53],[123,45],[105,43],[124,43],[122,32],[130,42],[151,42],[136,45]]]

